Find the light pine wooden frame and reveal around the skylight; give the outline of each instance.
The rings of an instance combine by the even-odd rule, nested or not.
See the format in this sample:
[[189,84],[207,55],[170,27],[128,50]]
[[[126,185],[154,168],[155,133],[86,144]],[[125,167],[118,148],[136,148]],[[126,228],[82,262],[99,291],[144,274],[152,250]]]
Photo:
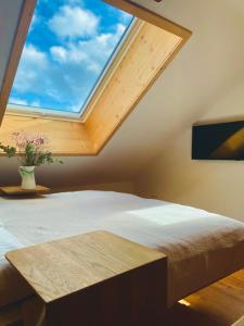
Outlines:
[[[0,141],[13,131],[39,131],[55,155],[97,155],[191,36],[191,32],[127,0],[104,0],[139,18],[140,30],[82,122],[13,115],[5,112],[36,0],[23,5],[0,92]],[[140,23],[140,20],[143,23]],[[5,112],[5,114],[4,114]],[[3,117],[4,115],[4,117]]]

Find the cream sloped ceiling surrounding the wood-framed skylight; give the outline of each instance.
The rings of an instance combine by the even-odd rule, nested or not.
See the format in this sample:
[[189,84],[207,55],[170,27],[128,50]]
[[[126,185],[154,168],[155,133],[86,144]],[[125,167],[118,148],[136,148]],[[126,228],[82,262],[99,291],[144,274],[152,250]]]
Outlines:
[[[4,4],[2,3],[4,2]],[[8,1],[12,3],[12,1]],[[5,53],[16,25],[21,1],[14,0],[11,18],[0,8],[0,51]],[[97,158],[64,158],[64,165],[39,168],[41,181],[82,185],[133,178],[166,142],[197,121],[244,76],[243,0],[134,1],[189,28],[193,35],[153,88]],[[5,5],[7,1],[0,1]],[[10,22],[9,22],[10,21]],[[2,29],[4,24],[5,30]],[[1,53],[1,59],[2,59]],[[0,65],[0,76],[4,62]],[[17,163],[0,158],[0,184],[17,179]],[[4,173],[3,173],[4,172]]]

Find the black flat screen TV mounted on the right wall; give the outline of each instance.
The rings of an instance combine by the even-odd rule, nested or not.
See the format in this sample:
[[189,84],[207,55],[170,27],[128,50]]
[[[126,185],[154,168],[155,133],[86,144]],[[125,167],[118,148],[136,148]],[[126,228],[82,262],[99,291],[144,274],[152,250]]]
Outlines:
[[193,160],[244,160],[244,121],[192,127]]

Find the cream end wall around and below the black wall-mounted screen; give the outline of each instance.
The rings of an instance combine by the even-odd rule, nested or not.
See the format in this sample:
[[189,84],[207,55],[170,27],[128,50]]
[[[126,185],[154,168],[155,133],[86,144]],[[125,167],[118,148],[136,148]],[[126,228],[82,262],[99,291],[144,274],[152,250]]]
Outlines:
[[[244,118],[244,82],[200,121]],[[189,126],[138,177],[137,192],[229,215],[244,222],[244,161],[192,161]]]

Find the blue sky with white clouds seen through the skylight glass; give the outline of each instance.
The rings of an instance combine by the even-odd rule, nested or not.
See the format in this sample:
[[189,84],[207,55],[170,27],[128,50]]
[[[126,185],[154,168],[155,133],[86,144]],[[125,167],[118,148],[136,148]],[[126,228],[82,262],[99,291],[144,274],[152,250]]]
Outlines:
[[9,102],[79,112],[131,20],[102,0],[39,0]]

